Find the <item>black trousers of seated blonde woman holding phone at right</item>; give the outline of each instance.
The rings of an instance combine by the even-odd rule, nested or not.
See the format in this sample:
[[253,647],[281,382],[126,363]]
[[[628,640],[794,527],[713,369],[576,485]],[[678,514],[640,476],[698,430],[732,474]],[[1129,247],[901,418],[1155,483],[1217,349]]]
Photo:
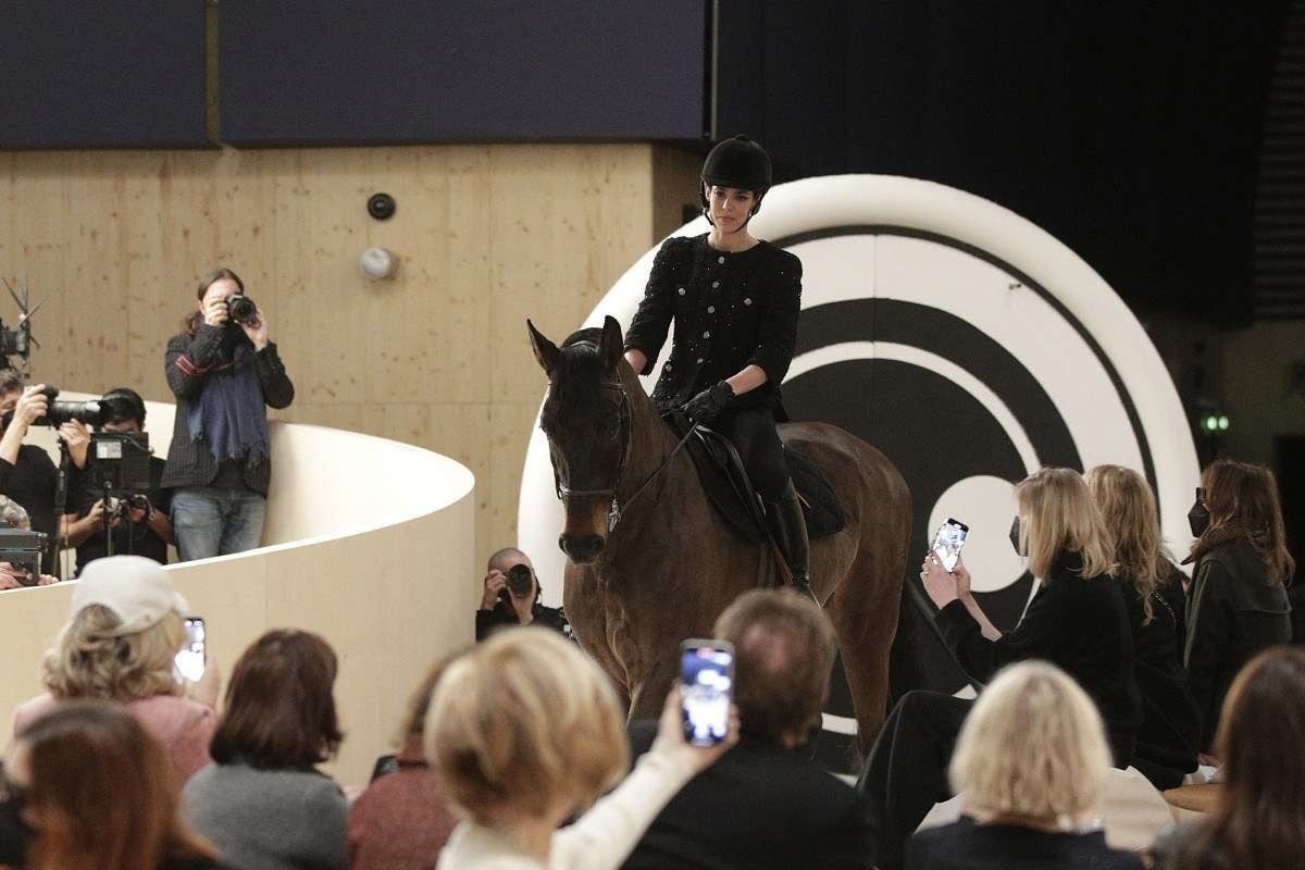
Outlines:
[[[908,691],[889,713],[856,788],[870,805],[878,850],[876,866],[902,866],[906,841],[933,805],[953,796],[947,766],[960,736],[960,725],[974,700],[938,691]],[[1107,729],[1114,766],[1124,770],[1133,758],[1134,734]]]

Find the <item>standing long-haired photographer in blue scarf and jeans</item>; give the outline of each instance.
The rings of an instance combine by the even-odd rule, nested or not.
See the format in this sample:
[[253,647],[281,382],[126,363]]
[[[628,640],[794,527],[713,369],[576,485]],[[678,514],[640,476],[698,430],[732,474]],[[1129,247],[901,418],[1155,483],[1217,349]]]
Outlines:
[[268,407],[286,408],[295,387],[268,318],[230,269],[200,282],[196,310],[167,343],[164,374],[176,424],[163,487],[183,562],[258,547],[271,480]]

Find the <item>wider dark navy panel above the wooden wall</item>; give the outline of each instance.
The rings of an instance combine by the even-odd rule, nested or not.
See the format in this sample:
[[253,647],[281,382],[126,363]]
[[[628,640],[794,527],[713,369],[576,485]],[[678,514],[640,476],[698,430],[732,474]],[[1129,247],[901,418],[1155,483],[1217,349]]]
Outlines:
[[705,0],[223,0],[236,145],[703,133]]

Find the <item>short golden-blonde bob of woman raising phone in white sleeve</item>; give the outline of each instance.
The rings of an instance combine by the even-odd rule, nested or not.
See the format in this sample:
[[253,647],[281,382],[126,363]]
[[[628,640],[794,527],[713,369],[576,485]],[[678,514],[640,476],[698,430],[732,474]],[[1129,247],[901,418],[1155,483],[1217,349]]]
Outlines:
[[547,629],[501,631],[452,663],[424,742],[453,809],[479,824],[504,809],[544,818],[587,807],[629,766],[612,685]]

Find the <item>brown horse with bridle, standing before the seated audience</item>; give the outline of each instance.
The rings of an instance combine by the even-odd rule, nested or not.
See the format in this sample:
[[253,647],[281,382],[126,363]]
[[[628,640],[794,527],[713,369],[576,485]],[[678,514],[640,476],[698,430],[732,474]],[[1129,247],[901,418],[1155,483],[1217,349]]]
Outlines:
[[[559,537],[569,557],[566,614],[630,717],[656,716],[679,673],[680,640],[710,637],[716,616],[757,586],[769,550],[715,514],[625,361],[613,318],[561,348],[527,326],[549,381],[540,428],[566,511]],[[865,753],[887,700],[911,496],[883,454],[842,429],[803,423],[779,430],[820,464],[847,507],[847,527],[813,543],[810,575],[838,634]]]

